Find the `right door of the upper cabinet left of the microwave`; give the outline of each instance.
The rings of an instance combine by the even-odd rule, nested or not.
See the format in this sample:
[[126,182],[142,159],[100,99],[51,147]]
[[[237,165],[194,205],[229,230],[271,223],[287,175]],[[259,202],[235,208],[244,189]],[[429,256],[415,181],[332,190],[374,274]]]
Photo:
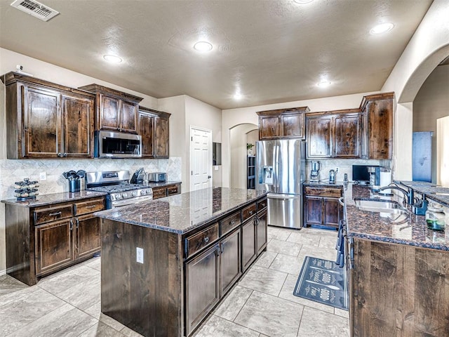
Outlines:
[[93,157],[93,107],[94,100],[62,96],[62,156]]

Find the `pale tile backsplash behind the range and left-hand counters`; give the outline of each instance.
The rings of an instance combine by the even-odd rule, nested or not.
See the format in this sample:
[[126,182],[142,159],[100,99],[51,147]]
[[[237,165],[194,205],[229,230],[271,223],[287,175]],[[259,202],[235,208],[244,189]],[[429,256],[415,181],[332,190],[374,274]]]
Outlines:
[[[130,174],[143,167],[146,172],[167,172],[168,180],[181,181],[181,158],[170,159],[4,159],[0,160],[0,199],[14,197],[14,182],[30,178],[39,181],[39,194],[68,192],[68,180],[62,176],[65,171],[118,171],[128,170]],[[45,172],[47,180],[39,180],[39,173]],[[83,188],[83,181],[81,188]]]

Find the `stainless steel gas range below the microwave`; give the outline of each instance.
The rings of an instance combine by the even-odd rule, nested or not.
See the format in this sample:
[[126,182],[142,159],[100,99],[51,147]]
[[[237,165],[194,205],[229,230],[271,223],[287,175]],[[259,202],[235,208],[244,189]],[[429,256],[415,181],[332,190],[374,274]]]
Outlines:
[[107,209],[153,199],[152,187],[128,183],[128,171],[86,173],[86,190],[106,192]]

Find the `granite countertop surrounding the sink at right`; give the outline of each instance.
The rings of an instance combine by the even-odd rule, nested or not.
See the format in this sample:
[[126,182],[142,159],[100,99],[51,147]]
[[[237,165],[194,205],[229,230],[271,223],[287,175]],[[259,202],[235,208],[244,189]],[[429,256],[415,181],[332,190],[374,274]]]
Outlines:
[[[445,232],[429,230],[425,217],[416,216],[410,209],[409,213],[401,215],[361,211],[356,208],[354,198],[378,199],[379,196],[373,194],[369,187],[352,183],[344,186],[345,215],[349,237],[449,251],[448,228]],[[387,197],[382,198],[387,199]],[[395,201],[400,204],[402,202],[401,199]]]

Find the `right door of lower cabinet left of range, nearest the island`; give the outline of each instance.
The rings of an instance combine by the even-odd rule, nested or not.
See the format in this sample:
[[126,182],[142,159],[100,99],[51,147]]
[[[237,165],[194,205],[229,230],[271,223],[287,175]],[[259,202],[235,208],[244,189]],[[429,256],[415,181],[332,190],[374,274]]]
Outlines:
[[75,218],[75,258],[85,258],[100,251],[100,219],[92,214]]

